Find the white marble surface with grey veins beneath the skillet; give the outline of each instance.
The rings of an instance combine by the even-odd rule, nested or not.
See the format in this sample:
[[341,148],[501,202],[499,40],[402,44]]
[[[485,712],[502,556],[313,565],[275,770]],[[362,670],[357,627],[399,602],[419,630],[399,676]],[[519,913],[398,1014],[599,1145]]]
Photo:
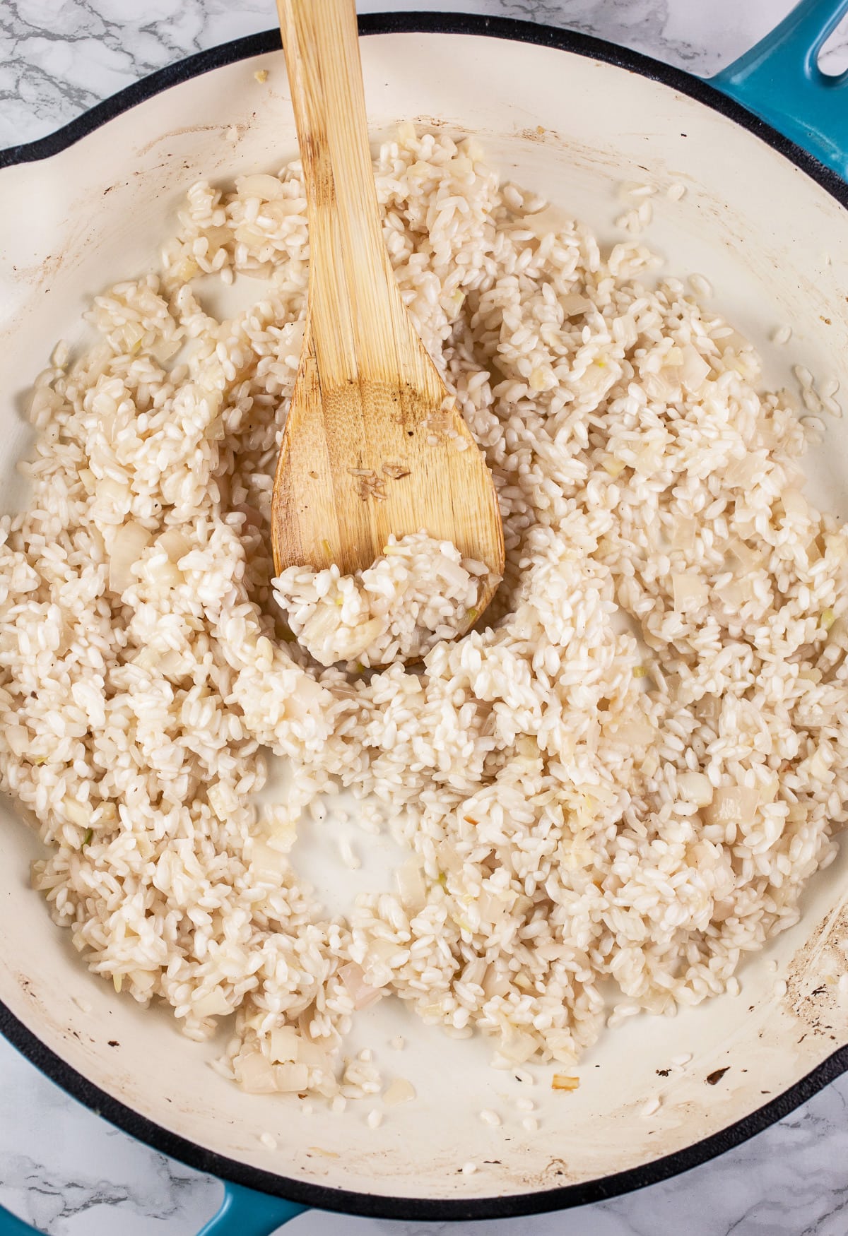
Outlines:
[[[567,25],[713,73],[791,0],[410,0]],[[272,23],[271,0],[0,0],[0,148],[31,141],[153,69]],[[831,70],[847,63],[836,36]],[[156,1154],[68,1099],[0,1041],[0,1201],[51,1236],[190,1236],[216,1182]],[[435,1236],[446,1224],[316,1213],[292,1236]],[[469,1236],[844,1236],[848,1078],[723,1158],[561,1215],[461,1224]]]

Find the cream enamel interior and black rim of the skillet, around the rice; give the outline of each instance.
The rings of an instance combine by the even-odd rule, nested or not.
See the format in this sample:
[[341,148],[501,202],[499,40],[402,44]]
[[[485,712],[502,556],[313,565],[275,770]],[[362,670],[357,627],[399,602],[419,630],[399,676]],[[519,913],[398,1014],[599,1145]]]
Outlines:
[[[455,15],[371,17],[362,27],[376,137],[409,119],[476,133],[504,177],[548,194],[603,242],[621,239],[613,219],[622,180],[684,184],[681,201],[654,199],[647,232],[666,269],[711,279],[716,309],[763,347],[769,381],[789,383],[791,363],[801,362],[846,387],[848,220],[836,177],[696,79],[593,40]],[[265,84],[257,69],[269,70]],[[28,444],[21,398],[53,342],[79,337],[89,298],[153,268],[194,180],[273,171],[294,153],[276,33],[194,57],[54,138],[7,152],[0,174],[6,508],[25,501],[14,473]],[[769,335],[782,323],[794,335],[778,349]],[[816,501],[842,514],[847,446],[846,423],[833,420],[811,462]],[[848,936],[844,850],[811,881],[799,926],[742,967],[739,996],[608,1031],[583,1060],[576,1093],[551,1093],[549,1068],[535,1069],[528,1091],[488,1067],[486,1042],[451,1041],[397,1000],[361,1015],[352,1046],[371,1046],[384,1075],[409,1078],[419,1096],[371,1130],[367,1101],[341,1116],[315,1104],[304,1116],[297,1099],[242,1094],[209,1068],[220,1043],[189,1042],[164,1012],[146,1012],[93,978],[28,886],[31,831],[11,803],[4,813],[6,1037],[158,1149],[303,1205],[482,1219],[595,1200],[718,1153],[848,1067],[848,1009],[836,994]],[[319,838],[304,839],[299,861],[339,905],[356,887],[378,887],[393,853],[384,842],[373,847],[356,887],[349,871],[334,870],[334,848]],[[388,1047],[398,1033],[407,1041],[399,1053]],[[684,1057],[689,1063],[672,1067]],[[536,1104],[538,1132],[522,1126],[520,1096]],[[661,1106],[645,1115],[653,1096]],[[481,1122],[483,1107],[501,1115],[501,1127]],[[261,1143],[266,1131],[276,1149]],[[473,1174],[461,1172],[469,1162]],[[286,1217],[273,1211],[276,1201],[258,1210],[248,1203],[237,1194],[242,1232],[271,1231],[273,1215]]]

